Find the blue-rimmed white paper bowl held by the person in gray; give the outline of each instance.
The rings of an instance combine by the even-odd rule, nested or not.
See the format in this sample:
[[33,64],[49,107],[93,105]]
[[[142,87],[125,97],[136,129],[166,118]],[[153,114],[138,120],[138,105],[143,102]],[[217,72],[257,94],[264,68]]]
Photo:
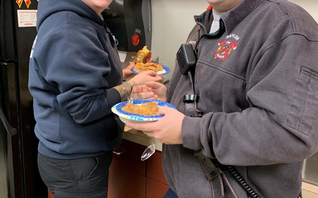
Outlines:
[[[171,105],[168,102],[164,102],[161,100],[150,100],[150,99],[136,99],[133,100],[134,105],[141,105],[142,103],[146,102],[157,102],[158,106],[167,106],[171,107],[174,109],[177,109],[174,105]],[[125,124],[128,122],[152,122],[152,121],[158,121],[160,120],[163,115],[151,115],[151,116],[146,116],[146,115],[139,115],[139,114],[134,114],[134,113],[128,113],[123,110],[121,110],[122,107],[124,107],[128,101],[118,103],[117,105],[114,105],[112,107],[112,112],[114,112],[116,115],[119,116],[121,121]]]

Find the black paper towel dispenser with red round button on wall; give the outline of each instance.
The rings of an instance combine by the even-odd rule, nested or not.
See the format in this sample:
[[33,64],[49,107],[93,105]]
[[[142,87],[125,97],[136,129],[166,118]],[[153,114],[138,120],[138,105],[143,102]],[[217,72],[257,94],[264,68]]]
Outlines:
[[137,52],[145,45],[151,50],[150,0],[114,0],[101,14],[118,41],[118,50]]

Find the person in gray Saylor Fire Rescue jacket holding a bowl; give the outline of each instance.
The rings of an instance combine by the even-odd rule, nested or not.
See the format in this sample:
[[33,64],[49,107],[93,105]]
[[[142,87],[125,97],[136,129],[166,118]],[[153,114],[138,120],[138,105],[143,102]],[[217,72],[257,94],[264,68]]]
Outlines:
[[[300,197],[303,160],[318,150],[318,25],[286,0],[208,2],[213,10],[194,16],[187,39],[198,48],[195,92],[203,117],[186,116],[182,100],[191,85],[176,63],[169,85],[148,82],[136,91],[178,111],[161,107],[161,120],[127,126],[165,143],[164,174],[179,198],[251,197],[229,171],[218,175],[223,186],[213,186],[193,155],[201,148],[235,167],[259,197]],[[213,12],[221,14],[210,32]],[[218,196],[222,188],[230,194]]]

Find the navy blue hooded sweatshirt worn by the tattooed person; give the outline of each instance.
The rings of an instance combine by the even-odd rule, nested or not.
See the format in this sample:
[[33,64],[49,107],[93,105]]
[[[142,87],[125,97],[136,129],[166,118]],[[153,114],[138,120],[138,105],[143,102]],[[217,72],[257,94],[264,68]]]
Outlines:
[[106,23],[80,0],[39,1],[29,66],[38,151],[58,159],[100,155],[121,142],[117,48]]

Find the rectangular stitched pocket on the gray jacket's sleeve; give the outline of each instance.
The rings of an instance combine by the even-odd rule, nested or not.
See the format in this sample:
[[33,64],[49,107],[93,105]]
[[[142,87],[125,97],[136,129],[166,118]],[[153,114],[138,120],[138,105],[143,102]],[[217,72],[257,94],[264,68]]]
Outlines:
[[318,73],[301,67],[287,126],[309,135],[317,118]]

